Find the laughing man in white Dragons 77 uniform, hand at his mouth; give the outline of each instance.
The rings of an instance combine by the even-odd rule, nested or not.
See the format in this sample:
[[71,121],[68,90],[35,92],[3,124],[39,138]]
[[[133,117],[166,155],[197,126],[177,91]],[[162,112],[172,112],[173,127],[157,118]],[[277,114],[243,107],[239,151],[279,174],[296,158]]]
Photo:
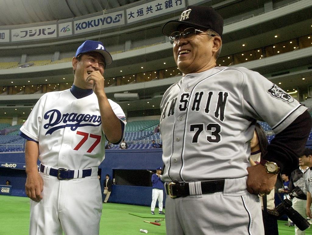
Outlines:
[[72,59],[72,88],[44,94],[20,129],[27,139],[30,234],[99,234],[98,166],[105,139],[118,144],[126,124],[123,110],[104,91],[111,62],[101,42],[85,41]]

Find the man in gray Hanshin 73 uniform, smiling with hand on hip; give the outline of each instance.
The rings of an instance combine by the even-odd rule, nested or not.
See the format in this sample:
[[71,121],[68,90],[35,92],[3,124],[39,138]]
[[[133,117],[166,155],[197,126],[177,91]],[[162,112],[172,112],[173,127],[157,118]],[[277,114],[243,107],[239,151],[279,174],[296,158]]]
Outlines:
[[[216,67],[222,30],[203,6],[163,26],[183,73],[160,104],[167,234],[264,234],[257,194],[270,193],[280,169],[295,169],[311,130],[307,109],[259,73]],[[276,137],[250,166],[256,120]]]

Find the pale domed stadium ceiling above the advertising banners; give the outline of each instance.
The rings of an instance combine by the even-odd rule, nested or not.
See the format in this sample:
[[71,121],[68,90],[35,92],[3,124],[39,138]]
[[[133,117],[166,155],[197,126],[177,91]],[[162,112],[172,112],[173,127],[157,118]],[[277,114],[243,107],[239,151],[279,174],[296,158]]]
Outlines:
[[18,25],[79,17],[138,0],[1,0],[0,25]]

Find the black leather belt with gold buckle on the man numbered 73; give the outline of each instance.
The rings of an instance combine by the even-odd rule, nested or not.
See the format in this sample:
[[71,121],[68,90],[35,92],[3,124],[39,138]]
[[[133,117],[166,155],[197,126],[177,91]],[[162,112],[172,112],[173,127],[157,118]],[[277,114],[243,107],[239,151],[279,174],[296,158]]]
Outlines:
[[[201,182],[202,194],[222,192],[224,179]],[[171,198],[186,197],[190,195],[188,183],[170,182],[167,184],[167,194]]]

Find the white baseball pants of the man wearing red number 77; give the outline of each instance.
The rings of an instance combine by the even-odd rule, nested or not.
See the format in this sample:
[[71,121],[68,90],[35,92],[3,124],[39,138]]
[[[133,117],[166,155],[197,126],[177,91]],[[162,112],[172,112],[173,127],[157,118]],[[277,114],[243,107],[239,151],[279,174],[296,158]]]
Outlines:
[[97,170],[82,179],[58,180],[42,172],[40,175],[43,198],[38,203],[30,200],[29,234],[98,235],[102,192]]

